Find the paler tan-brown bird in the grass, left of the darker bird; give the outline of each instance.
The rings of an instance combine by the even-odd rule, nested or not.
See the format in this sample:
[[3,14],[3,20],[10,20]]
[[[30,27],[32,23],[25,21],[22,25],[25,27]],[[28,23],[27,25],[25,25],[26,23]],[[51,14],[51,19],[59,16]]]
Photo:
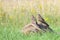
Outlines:
[[24,33],[24,34],[29,34],[29,33],[31,33],[31,32],[41,32],[41,31],[43,31],[43,30],[41,30],[39,27],[38,27],[38,25],[37,25],[37,20],[36,20],[36,18],[32,15],[32,17],[31,17],[31,23],[29,23],[29,24],[27,24],[27,25],[25,25],[24,27],[23,27],[23,29],[22,29],[22,32]]

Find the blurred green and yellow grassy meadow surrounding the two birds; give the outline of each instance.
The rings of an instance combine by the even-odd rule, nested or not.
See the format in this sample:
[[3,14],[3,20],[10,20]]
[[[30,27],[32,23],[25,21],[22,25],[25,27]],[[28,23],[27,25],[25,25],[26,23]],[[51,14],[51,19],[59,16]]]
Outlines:
[[60,34],[60,0],[0,0],[0,40],[60,40],[57,34],[20,33],[31,15],[38,13]]

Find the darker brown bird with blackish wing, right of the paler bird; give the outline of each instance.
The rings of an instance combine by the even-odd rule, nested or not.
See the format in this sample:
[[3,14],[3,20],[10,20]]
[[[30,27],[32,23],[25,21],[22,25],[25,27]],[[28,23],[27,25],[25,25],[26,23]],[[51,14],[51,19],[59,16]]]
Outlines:
[[53,30],[49,27],[49,24],[46,23],[46,21],[41,17],[40,14],[37,15],[37,25],[43,31],[48,31],[49,30],[49,32],[53,32]]

